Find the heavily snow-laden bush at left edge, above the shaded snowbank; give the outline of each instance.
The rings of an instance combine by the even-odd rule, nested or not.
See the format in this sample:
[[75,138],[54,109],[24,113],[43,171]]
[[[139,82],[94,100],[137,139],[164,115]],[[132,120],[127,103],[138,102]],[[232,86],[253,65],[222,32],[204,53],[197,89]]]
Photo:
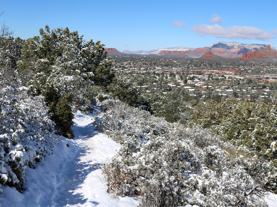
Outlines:
[[44,98],[29,97],[24,89],[0,85],[0,180],[19,191],[26,166],[43,160],[57,139]]

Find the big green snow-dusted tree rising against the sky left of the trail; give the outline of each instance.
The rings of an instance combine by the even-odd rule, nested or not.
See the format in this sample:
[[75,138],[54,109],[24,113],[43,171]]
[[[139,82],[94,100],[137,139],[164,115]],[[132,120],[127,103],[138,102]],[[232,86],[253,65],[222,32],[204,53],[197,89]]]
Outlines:
[[106,87],[114,78],[113,61],[104,52],[104,44],[83,42],[78,31],[71,32],[67,27],[50,31],[46,25],[39,33],[22,46],[19,75],[23,85],[29,87],[28,94],[46,97],[56,126],[63,133],[73,134],[70,104],[88,112],[96,96],[94,84]]

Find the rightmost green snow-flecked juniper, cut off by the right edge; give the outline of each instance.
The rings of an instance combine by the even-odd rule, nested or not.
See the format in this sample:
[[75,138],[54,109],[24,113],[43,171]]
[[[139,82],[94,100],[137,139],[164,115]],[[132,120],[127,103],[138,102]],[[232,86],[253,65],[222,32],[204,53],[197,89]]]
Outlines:
[[240,103],[215,130],[237,146],[246,146],[266,159],[276,159],[271,143],[276,140],[274,105]]

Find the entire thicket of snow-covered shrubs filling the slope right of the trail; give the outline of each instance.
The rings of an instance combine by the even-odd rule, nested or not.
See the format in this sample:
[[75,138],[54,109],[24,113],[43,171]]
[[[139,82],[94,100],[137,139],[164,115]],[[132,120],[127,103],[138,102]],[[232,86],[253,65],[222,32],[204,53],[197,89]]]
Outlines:
[[116,100],[101,107],[96,127],[122,144],[102,166],[108,192],[140,195],[143,206],[266,206],[273,163],[257,164],[208,129],[169,124]]

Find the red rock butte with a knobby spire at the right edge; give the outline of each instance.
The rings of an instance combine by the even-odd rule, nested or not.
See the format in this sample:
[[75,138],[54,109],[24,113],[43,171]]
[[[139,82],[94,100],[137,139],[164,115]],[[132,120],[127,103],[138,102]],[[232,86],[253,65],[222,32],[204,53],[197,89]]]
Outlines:
[[270,44],[262,50],[254,50],[243,54],[243,60],[259,60],[259,59],[268,59],[268,60],[277,60],[277,51],[271,49]]

